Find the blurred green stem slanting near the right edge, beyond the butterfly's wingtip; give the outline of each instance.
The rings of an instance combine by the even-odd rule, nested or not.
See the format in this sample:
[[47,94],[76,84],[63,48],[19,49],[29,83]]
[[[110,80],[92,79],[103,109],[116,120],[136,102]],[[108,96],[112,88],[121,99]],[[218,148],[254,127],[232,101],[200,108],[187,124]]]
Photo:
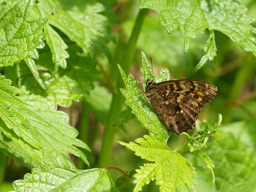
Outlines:
[[236,105],[236,100],[239,98],[241,93],[241,89],[243,88],[245,82],[254,75],[255,69],[255,57],[252,53],[248,53],[244,58],[244,65],[242,65],[236,74],[236,79],[234,80],[234,84],[231,87],[231,91],[229,94],[229,107],[225,111],[223,115],[223,123],[229,123],[232,121],[233,117],[233,109],[234,105]]

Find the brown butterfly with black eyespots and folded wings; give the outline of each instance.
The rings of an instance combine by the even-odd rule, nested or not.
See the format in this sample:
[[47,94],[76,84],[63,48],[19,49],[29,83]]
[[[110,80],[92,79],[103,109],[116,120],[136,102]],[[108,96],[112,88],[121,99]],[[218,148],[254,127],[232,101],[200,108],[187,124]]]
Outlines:
[[167,126],[169,132],[176,135],[195,127],[199,110],[216,93],[217,87],[214,84],[194,79],[160,83],[148,79],[145,88],[147,101],[150,101],[160,121]]

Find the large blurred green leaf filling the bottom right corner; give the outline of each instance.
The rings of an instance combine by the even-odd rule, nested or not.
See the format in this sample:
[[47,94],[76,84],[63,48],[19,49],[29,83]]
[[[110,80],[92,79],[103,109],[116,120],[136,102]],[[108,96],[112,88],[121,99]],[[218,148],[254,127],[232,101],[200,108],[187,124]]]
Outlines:
[[[227,125],[227,127],[223,125],[222,130],[232,126],[235,130],[240,129],[241,132],[244,132],[242,129],[244,130],[246,124],[243,127],[240,126],[241,123],[233,123]],[[232,132],[228,132],[228,130],[222,131],[221,140],[216,141],[210,150],[206,152],[206,155],[213,159],[212,163],[215,165],[214,173],[216,180],[215,185],[209,184],[211,185],[210,188],[212,188],[211,191],[255,191],[255,150],[252,146],[248,145],[248,135],[245,132],[245,134],[237,136],[234,136]],[[246,138],[246,140],[243,141],[243,138]],[[193,158],[192,163],[196,166],[199,177],[208,183],[208,180],[211,178],[207,177],[207,168],[204,163],[198,160],[198,158]],[[200,186],[200,183],[198,183],[198,186]],[[195,187],[197,188],[197,186]]]

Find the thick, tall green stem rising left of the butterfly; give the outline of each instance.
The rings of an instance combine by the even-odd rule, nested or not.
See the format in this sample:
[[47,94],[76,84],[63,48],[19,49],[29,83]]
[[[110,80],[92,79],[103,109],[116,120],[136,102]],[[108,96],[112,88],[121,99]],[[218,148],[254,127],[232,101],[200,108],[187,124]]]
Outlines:
[[[134,24],[132,35],[125,47],[124,50],[124,56],[122,58],[122,61],[120,62],[121,67],[123,68],[124,72],[128,74],[131,62],[133,59],[134,51],[135,51],[135,44],[137,42],[138,36],[140,34],[140,29],[143,23],[143,20],[147,14],[147,9],[141,9],[136,22]],[[115,70],[118,70],[117,65]],[[119,89],[124,86],[123,79],[120,74],[117,76],[116,81],[116,88],[118,92],[113,94],[112,103],[110,110],[108,112],[108,118],[105,126],[105,131],[103,135],[102,145],[101,145],[101,151],[100,151],[100,157],[99,157],[99,167],[104,168],[108,167],[110,163],[111,153],[112,153],[112,146],[113,146],[113,140],[116,132],[116,127],[112,125],[112,123],[115,123],[118,121],[121,107],[124,102],[124,97],[119,92]]]

